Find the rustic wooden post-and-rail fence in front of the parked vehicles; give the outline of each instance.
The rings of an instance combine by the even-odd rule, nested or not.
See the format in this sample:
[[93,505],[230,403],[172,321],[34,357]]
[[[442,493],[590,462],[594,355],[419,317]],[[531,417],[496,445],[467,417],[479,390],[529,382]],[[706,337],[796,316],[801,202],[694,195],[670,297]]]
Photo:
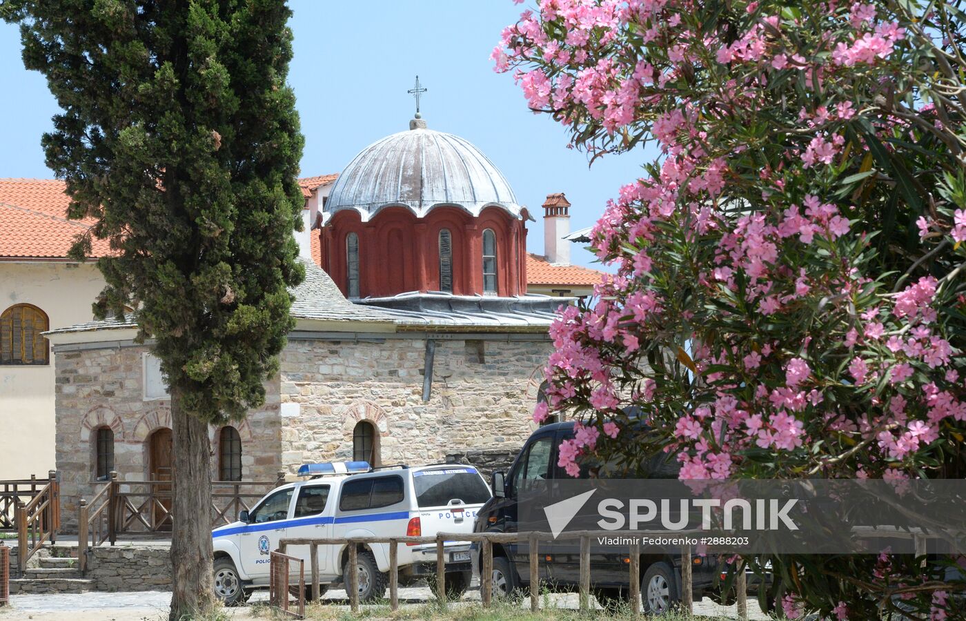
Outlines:
[[[621,535],[667,535],[667,532],[622,532]],[[687,533],[676,533],[684,535]],[[541,541],[560,541],[566,539],[580,539],[581,542],[581,573],[580,573],[580,608],[582,612],[590,609],[590,544],[597,537],[612,537],[612,531],[575,531],[561,533],[556,539],[550,533],[542,532],[523,532],[523,533],[439,533],[435,537],[351,537],[349,539],[282,539],[278,542],[278,553],[286,556],[289,546],[308,546],[309,565],[311,571],[312,597],[318,601],[320,597],[321,585],[319,583],[319,546],[345,546],[349,548],[349,584],[346,590],[349,593],[349,602],[353,612],[358,612],[359,598],[358,586],[358,559],[357,547],[359,545],[388,544],[389,546],[389,607],[392,610],[399,608],[399,563],[398,547],[401,544],[436,544],[436,596],[441,607],[446,606],[446,574],[445,574],[445,548],[446,541],[470,541],[479,542],[482,549],[482,563],[480,568],[480,596],[483,607],[490,607],[493,603],[493,546],[494,544],[515,543],[526,540],[529,544],[529,599],[530,610],[536,612],[540,609],[540,571],[539,571],[539,544]],[[635,616],[640,616],[640,546],[632,544],[630,546],[629,563],[629,582],[630,582],[630,606],[635,610]],[[275,563],[274,557],[271,559]],[[735,582],[735,590],[738,602],[738,613],[742,619],[748,619],[748,587],[745,576],[745,567],[742,565],[738,572]],[[270,572],[271,580],[276,579],[274,566]],[[280,578],[278,578],[280,579]],[[286,577],[286,580],[288,578]],[[286,585],[288,582],[286,581]],[[689,614],[694,613],[692,579],[692,550],[686,546],[681,550],[681,602],[680,606]],[[277,589],[280,585],[270,585],[270,588]],[[299,609],[304,607],[305,589],[299,591]],[[287,606],[287,604],[286,604]],[[287,608],[286,608],[287,609]]]

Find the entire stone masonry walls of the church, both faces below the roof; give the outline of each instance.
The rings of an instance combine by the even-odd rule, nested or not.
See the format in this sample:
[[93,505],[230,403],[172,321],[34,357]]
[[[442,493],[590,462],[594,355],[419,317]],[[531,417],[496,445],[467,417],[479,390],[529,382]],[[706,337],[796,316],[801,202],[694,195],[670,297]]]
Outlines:
[[[400,336],[355,341],[294,335],[281,355],[280,377],[266,384],[266,405],[234,424],[241,436],[242,480],[271,483],[280,470],[294,478],[307,462],[352,460],[353,433],[362,420],[378,430],[379,464],[449,458],[479,462],[487,475],[494,465],[505,467],[535,429],[531,413],[551,342],[544,335],[508,340],[505,333],[439,339],[424,403],[426,340]],[[55,356],[65,533],[76,532],[80,498],[90,501],[104,485],[96,476],[99,428],[113,431],[114,469],[121,481],[149,479],[150,438],[171,428],[169,402],[145,397],[144,355],[150,347],[88,348],[66,346]],[[218,432],[215,427],[210,432],[215,480]],[[146,500],[138,496],[131,502],[139,506]]]

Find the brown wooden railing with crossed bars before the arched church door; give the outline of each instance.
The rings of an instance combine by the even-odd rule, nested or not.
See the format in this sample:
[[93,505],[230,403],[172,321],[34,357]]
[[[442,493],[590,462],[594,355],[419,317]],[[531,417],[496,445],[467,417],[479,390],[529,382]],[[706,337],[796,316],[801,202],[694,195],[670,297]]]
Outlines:
[[[285,482],[285,472],[274,481],[213,481],[212,527],[238,519],[241,511],[252,505],[272,488]],[[117,543],[118,537],[171,536],[174,516],[170,481],[122,481],[117,472],[110,473],[97,494],[88,502],[81,499],[77,518],[77,540],[81,550]],[[86,554],[80,554],[81,574],[87,569]]]

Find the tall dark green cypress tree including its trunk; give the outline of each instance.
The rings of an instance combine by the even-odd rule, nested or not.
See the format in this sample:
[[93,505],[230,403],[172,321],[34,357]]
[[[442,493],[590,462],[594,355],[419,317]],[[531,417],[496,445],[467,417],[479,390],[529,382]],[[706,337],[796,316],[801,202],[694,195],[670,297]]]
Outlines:
[[43,136],[70,215],[110,240],[103,318],[133,308],[171,394],[171,619],[212,588],[209,425],[265,400],[300,282],[302,137],[283,0],[6,0],[63,109]]

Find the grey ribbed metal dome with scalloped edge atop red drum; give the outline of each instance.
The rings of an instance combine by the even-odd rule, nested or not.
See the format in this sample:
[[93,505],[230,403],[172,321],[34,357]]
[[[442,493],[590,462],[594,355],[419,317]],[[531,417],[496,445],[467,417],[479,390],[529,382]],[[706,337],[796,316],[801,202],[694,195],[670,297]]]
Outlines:
[[332,186],[324,217],[355,210],[367,221],[384,207],[408,207],[417,217],[434,207],[461,207],[474,216],[497,206],[520,217],[521,206],[490,158],[469,141],[413,119],[409,131],[386,136],[349,162]]

